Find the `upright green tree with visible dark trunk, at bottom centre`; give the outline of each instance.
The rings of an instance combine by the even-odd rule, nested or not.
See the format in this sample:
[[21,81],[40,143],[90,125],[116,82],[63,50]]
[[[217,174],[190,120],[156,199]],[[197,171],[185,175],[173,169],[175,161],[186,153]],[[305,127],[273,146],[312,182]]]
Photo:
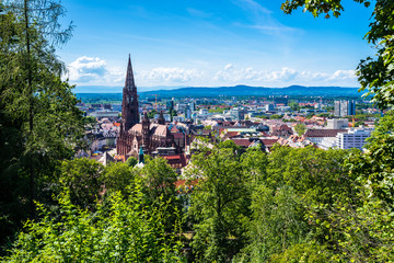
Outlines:
[[231,148],[215,148],[193,157],[198,187],[192,194],[188,215],[193,228],[193,253],[202,262],[229,262],[245,243],[248,216],[246,179]]

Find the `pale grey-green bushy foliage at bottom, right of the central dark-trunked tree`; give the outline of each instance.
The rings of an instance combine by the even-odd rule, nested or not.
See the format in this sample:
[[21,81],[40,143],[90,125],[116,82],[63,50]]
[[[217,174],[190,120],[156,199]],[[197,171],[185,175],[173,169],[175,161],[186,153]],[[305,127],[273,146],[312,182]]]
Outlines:
[[267,261],[289,244],[303,241],[308,233],[304,208],[291,186],[275,191],[260,184],[253,193],[252,210],[252,242],[247,250],[254,262]]

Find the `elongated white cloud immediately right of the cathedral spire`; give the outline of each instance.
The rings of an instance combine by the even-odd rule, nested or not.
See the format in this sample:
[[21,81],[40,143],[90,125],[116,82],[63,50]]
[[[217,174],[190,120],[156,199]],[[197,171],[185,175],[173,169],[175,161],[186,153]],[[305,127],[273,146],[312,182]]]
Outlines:
[[154,68],[137,71],[136,78],[141,81],[185,83],[201,78],[202,72],[197,69]]

